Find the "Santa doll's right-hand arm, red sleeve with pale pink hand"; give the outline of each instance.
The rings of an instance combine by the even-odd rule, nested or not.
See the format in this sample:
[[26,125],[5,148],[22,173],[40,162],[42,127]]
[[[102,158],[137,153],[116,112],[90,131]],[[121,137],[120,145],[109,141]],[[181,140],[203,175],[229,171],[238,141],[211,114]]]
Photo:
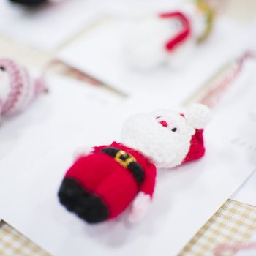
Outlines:
[[145,170],[145,179],[140,187],[140,192],[132,202],[132,207],[130,208],[128,216],[129,222],[140,222],[146,215],[154,193],[156,173],[156,167],[151,164],[148,165],[147,170]]

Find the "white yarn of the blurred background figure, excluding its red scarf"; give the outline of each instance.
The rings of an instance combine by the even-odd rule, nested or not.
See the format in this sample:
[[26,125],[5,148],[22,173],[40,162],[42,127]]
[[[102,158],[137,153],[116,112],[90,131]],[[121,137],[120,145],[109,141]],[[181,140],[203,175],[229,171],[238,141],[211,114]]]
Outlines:
[[127,60],[136,69],[154,69],[162,64],[180,68],[186,63],[196,47],[196,40],[205,27],[206,20],[202,12],[198,12],[195,4],[179,6],[192,26],[192,36],[173,51],[165,50],[166,42],[181,31],[181,23],[177,18],[159,18],[152,15],[135,23],[132,33],[126,39]]

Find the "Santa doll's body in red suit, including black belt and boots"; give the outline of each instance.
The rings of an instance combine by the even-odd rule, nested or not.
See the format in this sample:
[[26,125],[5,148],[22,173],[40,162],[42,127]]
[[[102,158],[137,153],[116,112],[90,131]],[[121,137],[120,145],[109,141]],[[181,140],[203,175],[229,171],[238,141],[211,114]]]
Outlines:
[[156,167],[138,151],[113,142],[80,157],[66,173],[61,203],[87,222],[121,214],[138,192],[152,197]]

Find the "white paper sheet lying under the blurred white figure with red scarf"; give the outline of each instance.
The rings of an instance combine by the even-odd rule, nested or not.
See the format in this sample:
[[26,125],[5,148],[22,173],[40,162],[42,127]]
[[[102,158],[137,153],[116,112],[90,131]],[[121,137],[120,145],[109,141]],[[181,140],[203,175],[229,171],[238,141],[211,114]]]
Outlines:
[[59,59],[129,95],[178,91],[179,101],[182,97],[186,99],[219,67],[238,56],[250,34],[248,25],[219,18],[211,37],[195,49],[184,67],[172,70],[164,66],[143,72],[131,67],[124,58],[124,45],[131,26],[131,20],[125,16],[102,23],[61,50]]

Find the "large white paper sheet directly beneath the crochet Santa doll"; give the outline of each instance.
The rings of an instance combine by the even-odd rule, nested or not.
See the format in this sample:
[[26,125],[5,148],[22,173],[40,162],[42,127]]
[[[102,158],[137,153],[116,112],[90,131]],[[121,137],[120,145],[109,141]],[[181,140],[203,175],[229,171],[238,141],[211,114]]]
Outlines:
[[[121,124],[130,113],[166,107],[167,102],[163,97],[138,98],[123,106],[114,102],[116,108],[97,108],[94,100],[86,102],[88,94],[82,88],[61,80],[54,83],[50,98],[35,102],[22,121],[20,116],[4,124],[0,135],[4,166],[12,165],[12,170],[0,167],[5,170],[0,180],[1,216],[53,255],[177,255],[255,166],[244,148],[233,145],[239,130],[233,127],[241,128],[244,122],[242,94],[238,102],[216,111],[205,132],[203,159],[159,170],[154,201],[143,222],[127,225],[123,214],[87,225],[67,212],[56,196],[73,151],[119,140]],[[249,86],[249,94],[252,89]]]

